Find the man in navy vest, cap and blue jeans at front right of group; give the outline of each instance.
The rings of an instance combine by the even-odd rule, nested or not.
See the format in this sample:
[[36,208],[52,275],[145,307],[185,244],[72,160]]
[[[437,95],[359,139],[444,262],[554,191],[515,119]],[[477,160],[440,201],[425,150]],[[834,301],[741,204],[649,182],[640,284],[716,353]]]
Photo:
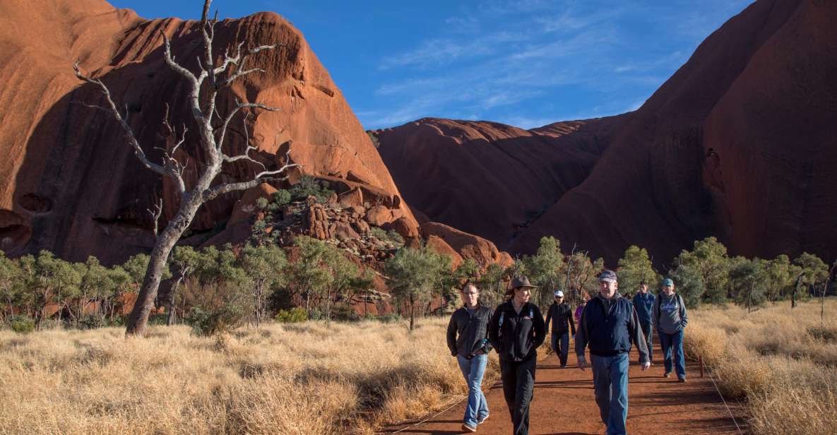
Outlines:
[[576,356],[582,371],[588,366],[584,348],[590,346],[596,404],[608,435],[628,433],[625,421],[631,341],[639,351],[642,370],[651,366],[634,304],[619,294],[618,286],[614,271],[604,270],[598,276],[598,295],[584,307],[576,334]]

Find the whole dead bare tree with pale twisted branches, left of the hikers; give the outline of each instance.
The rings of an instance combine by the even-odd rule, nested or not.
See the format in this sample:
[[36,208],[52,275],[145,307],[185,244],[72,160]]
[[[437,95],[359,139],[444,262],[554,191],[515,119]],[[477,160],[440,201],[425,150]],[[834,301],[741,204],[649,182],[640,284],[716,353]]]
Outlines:
[[[244,75],[255,72],[264,72],[263,69],[259,68],[247,69],[245,67],[247,59],[249,59],[249,56],[257,54],[260,51],[276,49],[279,45],[261,45],[242,52],[242,46],[244,43],[239,43],[235,45],[234,55],[230,54],[230,50],[227,49],[223,54],[223,59],[220,59],[219,62],[216,61],[216,56],[213,54],[213,38],[215,35],[215,24],[218,23],[218,17],[216,14],[215,18],[208,18],[211,3],[212,0],[205,0],[203,3],[203,14],[200,22],[201,32],[203,33],[203,59],[198,57],[199,70],[197,73],[193,73],[189,69],[184,68],[181,64],[175,62],[175,59],[172,56],[170,41],[165,33],[162,34],[166,64],[169,68],[179,74],[182,79],[187,81],[190,111],[195,124],[198,125],[198,146],[200,146],[204,156],[204,161],[202,162],[203,172],[200,173],[198,181],[195,182],[194,186],[191,188],[187,187],[186,182],[183,179],[182,174],[185,165],[180,161],[177,161],[175,156],[177,148],[182,146],[182,144],[186,141],[187,129],[185,125],[182,128],[179,140],[177,140],[177,135],[175,134],[175,140],[177,143],[172,150],[164,150],[162,164],[152,162],[142,150],[139,141],[136,140],[133,130],[131,130],[131,125],[129,125],[127,119],[128,111],[126,110],[125,115],[122,115],[120,110],[117,109],[116,103],[111,98],[110,91],[107,86],[105,86],[100,79],[93,79],[85,74],[82,74],[79,69],[78,62],[73,65],[75,74],[79,79],[82,79],[90,84],[95,84],[95,86],[100,88],[102,93],[105,95],[107,106],[103,107],[100,105],[82,104],[95,109],[105,110],[105,112],[113,115],[114,118],[119,121],[122,130],[125,130],[127,141],[131,147],[133,147],[134,155],[137,159],[139,159],[142,166],[146,166],[146,168],[151,171],[157,172],[157,174],[160,174],[162,177],[171,178],[177,187],[177,192],[180,194],[180,207],[178,208],[177,213],[168,222],[166,228],[163,228],[160,233],[157,233],[156,231],[159,212],[157,212],[157,210],[150,211],[152,216],[155,218],[154,226],[156,242],[154,243],[154,248],[151,251],[151,261],[148,264],[146,276],[142,281],[142,286],[140,293],[137,296],[136,304],[134,304],[134,309],[131,310],[131,315],[128,317],[126,335],[142,335],[146,330],[148,315],[151,312],[151,306],[154,303],[154,299],[157,297],[157,289],[160,286],[160,279],[163,269],[167,263],[169,253],[172,252],[172,248],[175,243],[177,243],[177,240],[180,239],[182,233],[184,233],[192,223],[195,214],[198,212],[198,208],[201,207],[204,202],[209,202],[213,200],[213,198],[225,193],[242,191],[250,187],[256,187],[259,183],[267,180],[275,180],[280,177],[282,172],[292,166],[296,166],[295,164],[290,163],[290,149],[285,153],[283,166],[276,170],[267,170],[264,164],[249,156],[249,152],[254,151],[257,148],[249,145],[249,134],[246,130],[247,115],[244,116],[244,136],[246,140],[246,148],[244,149],[244,152],[235,156],[228,156],[224,153],[223,145],[224,139],[227,135],[227,130],[230,123],[233,121],[234,116],[238,114],[239,111],[244,110],[245,113],[249,114],[249,111],[254,110],[275,111],[278,109],[268,107],[266,105],[260,105],[258,103],[242,103],[236,101],[237,104],[233,110],[231,110],[229,114],[223,118],[222,124],[219,127],[216,127],[213,126],[212,120],[213,115],[218,115],[215,108],[215,98],[218,95],[218,92],[223,90],[223,88],[228,87],[229,84],[232,84],[235,79],[244,77]],[[221,116],[218,115],[218,118],[220,119]],[[171,126],[168,125],[167,119],[163,120],[163,122],[170,132],[176,133]],[[223,164],[233,163],[234,161],[249,161],[257,166],[261,166],[262,171],[259,171],[251,180],[246,182],[228,182],[212,186],[213,180],[221,172]]]

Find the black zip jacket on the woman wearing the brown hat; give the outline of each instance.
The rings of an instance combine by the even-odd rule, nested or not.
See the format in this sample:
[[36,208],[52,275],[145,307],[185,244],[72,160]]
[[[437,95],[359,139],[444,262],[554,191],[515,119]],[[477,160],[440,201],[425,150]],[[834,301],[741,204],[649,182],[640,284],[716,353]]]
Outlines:
[[515,312],[511,300],[500,304],[488,324],[491,345],[506,361],[524,361],[537,356],[538,346],[547,337],[541,310],[526,302],[520,313]]

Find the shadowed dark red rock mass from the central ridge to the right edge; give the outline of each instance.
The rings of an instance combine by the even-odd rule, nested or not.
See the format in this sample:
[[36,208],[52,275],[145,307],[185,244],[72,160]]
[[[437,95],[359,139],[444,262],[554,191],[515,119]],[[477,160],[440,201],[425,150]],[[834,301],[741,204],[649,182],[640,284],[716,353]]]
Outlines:
[[[631,244],[662,264],[715,235],[733,254],[808,251],[833,261],[835,22],[834,2],[752,3],[639,110],[579,127],[594,130],[577,142],[586,158],[573,146],[506,146],[572,139],[566,123],[526,131],[419,120],[376,132],[378,150],[411,206],[512,253],[532,253],[552,235],[611,266]],[[512,228],[542,204],[531,224]]]

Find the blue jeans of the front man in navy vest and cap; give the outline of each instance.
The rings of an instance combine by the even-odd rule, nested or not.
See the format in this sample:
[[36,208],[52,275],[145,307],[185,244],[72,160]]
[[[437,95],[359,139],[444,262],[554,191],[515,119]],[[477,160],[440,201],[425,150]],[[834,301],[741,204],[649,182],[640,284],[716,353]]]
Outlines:
[[608,425],[607,435],[628,433],[628,354],[590,356],[593,369],[593,389],[602,422]]

